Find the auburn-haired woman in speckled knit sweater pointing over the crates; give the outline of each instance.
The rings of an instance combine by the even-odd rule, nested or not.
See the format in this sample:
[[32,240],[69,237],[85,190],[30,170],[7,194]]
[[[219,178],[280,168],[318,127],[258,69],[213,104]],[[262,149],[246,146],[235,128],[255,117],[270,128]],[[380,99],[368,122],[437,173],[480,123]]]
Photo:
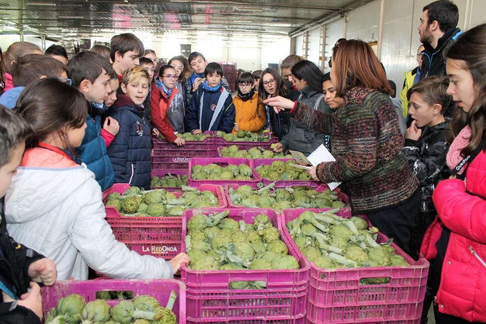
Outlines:
[[335,162],[310,171],[323,183],[342,182],[353,214],[371,223],[409,252],[410,233],[420,209],[417,178],[401,153],[403,136],[380,61],[361,40],[339,44],[332,57],[331,79],[344,105],[333,114],[276,97],[264,101],[317,132],[331,134]]

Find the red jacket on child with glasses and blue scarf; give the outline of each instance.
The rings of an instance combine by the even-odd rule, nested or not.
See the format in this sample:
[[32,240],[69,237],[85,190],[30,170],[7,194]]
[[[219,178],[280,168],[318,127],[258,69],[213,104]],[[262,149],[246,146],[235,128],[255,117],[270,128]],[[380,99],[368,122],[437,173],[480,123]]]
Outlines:
[[150,115],[152,116],[152,123],[160,133],[167,139],[169,143],[173,143],[177,136],[174,135],[174,128],[167,117],[167,109],[172,101],[172,98],[177,94],[177,88],[172,89],[170,98],[159,90],[155,83],[152,82],[152,93],[150,95]]

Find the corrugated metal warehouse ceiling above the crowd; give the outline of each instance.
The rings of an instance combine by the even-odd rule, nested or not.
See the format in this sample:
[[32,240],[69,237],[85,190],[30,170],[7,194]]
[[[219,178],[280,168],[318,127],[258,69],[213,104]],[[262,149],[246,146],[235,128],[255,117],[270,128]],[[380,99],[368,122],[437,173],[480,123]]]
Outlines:
[[51,40],[122,32],[208,33],[275,39],[339,17],[370,0],[0,0],[0,33]]

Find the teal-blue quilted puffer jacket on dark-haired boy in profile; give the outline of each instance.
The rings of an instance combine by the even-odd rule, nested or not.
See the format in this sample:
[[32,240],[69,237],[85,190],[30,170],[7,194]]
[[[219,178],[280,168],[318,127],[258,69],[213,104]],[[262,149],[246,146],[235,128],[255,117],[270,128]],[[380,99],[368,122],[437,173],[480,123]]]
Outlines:
[[115,181],[115,174],[110,159],[106,153],[106,143],[101,136],[101,114],[94,104],[91,104],[90,111],[86,115],[86,133],[81,146],[76,149],[81,162],[96,176],[96,181],[101,190],[110,188]]

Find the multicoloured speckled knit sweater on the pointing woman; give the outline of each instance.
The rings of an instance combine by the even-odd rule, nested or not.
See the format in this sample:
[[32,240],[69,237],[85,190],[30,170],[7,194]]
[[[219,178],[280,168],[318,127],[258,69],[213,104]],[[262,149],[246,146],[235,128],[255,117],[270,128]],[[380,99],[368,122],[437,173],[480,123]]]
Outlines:
[[334,115],[297,104],[294,118],[317,132],[331,134],[335,162],[321,163],[323,183],[343,182],[353,214],[391,208],[408,200],[418,180],[401,152],[404,139],[390,98],[354,87]]

